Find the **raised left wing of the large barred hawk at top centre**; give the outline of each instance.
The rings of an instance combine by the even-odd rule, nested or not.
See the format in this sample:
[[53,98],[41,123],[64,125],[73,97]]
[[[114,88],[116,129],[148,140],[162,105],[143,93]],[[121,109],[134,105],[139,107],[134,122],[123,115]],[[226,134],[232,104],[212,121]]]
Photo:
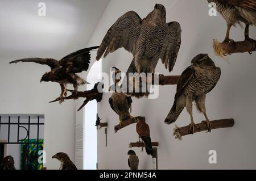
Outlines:
[[122,47],[134,55],[135,45],[141,31],[141,22],[142,19],[134,11],[126,12],[118,18],[102,40],[96,60],[100,60],[104,52],[105,58],[109,53]]

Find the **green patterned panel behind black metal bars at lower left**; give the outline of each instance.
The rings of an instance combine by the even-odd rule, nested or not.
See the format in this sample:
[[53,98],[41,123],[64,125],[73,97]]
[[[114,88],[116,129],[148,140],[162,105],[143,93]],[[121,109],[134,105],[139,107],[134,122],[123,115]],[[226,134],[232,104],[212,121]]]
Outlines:
[[[43,139],[39,139],[39,144],[36,144],[36,139],[30,139],[31,144],[21,144],[20,147],[20,169],[22,170],[42,170],[43,163],[38,163],[38,151],[43,150]],[[28,142],[28,140],[22,140]],[[28,150],[27,150],[28,145]],[[38,149],[37,149],[38,147]],[[36,167],[37,166],[37,167]]]

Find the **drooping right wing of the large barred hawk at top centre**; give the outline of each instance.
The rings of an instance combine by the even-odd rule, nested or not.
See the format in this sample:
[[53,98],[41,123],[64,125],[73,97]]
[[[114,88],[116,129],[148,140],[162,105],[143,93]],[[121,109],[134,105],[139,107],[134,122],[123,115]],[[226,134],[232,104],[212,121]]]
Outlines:
[[180,49],[181,28],[178,22],[168,23],[168,28],[167,41],[164,47],[164,52],[161,56],[161,60],[166,69],[168,68],[169,71],[172,71]]

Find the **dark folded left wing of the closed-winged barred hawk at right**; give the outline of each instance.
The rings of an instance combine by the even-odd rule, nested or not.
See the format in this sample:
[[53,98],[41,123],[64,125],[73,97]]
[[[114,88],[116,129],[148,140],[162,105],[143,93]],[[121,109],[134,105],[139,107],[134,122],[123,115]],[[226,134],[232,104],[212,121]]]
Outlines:
[[175,99],[177,99],[178,96],[181,94],[181,92],[183,91],[183,88],[187,85],[189,80],[193,77],[194,73],[195,73],[195,69],[192,66],[189,66],[180,75],[179,81],[177,83],[177,91],[175,94]]

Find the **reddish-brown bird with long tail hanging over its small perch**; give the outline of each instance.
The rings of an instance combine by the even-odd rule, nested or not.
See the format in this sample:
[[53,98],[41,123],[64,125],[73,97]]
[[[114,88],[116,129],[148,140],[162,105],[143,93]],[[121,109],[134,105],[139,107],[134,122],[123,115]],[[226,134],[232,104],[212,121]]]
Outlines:
[[150,138],[150,128],[144,119],[137,119],[136,131],[139,137],[142,138],[147,154],[153,155],[152,142]]

